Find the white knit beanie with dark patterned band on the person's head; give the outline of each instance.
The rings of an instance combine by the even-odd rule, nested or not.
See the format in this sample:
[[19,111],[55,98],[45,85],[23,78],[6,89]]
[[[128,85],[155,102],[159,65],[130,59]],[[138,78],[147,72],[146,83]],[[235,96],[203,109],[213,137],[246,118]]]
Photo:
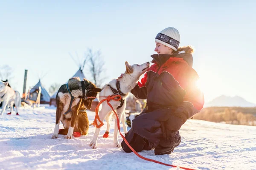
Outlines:
[[155,42],[159,42],[177,51],[180,45],[180,33],[176,28],[168,27],[157,34]]

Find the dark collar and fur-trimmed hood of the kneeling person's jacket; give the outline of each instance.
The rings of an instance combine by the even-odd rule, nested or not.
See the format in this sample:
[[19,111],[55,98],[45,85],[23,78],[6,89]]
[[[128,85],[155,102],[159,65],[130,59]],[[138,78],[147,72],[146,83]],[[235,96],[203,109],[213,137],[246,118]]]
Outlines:
[[192,57],[192,53],[194,52],[194,48],[192,46],[183,46],[178,48],[178,50],[172,54],[153,54],[151,55],[151,57],[153,58],[153,60],[151,62],[153,62],[154,64],[159,63],[159,64],[163,64],[164,62],[166,62],[170,57],[178,57],[178,58],[183,58],[189,66],[192,67],[193,65],[193,57]]

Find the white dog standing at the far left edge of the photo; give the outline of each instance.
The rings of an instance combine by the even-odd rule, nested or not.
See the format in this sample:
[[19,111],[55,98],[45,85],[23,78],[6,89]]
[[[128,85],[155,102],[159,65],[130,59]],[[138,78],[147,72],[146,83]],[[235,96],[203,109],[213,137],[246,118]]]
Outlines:
[[0,115],[3,115],[3,113],[6,110],[6,106],[10,106],[10,113],[12,113],[12,108],[13,105],[15,104],[16,108],[16,115],[19,115],[18,113],[18,107],[21,106],[21,99],[20,99],[20,93],[18,91],[14,91],[11,87],[8,86],[8,82],[2,82],[0,81],[0,101],[3,100],[3,105],[2,105],[2,111]]

